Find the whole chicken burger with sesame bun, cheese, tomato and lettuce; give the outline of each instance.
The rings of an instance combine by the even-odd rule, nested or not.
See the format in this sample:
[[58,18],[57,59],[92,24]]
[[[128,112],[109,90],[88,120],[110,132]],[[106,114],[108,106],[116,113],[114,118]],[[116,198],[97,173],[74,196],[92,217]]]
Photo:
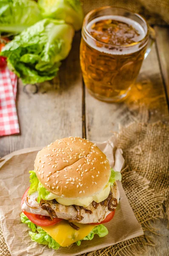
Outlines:
[[37,153],[30,187],[21,201],[21,221],[32,241],[58,249],[108,234],[119,202],[120,172],[89,140],[56,140]]

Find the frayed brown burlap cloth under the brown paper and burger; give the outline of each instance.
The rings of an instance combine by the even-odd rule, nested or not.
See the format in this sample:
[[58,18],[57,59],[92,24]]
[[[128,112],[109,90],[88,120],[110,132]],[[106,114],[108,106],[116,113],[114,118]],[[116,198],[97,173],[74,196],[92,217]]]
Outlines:
[[[145,233],[153,232],[152,220],[169,219],[169,126],[135,122],[114,136],[126,160],[122,183],[129,203]],[[144,235],[83,256],[140,256],[152,244]],[[0,256],[10,256],[1,230]]]

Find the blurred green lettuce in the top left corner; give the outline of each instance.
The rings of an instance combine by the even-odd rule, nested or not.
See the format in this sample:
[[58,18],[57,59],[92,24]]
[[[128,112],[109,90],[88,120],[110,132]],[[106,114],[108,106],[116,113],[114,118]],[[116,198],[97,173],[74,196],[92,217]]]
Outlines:
[[33,0],[0,0],[0,31],[20,33],[41,20],[37,3]]

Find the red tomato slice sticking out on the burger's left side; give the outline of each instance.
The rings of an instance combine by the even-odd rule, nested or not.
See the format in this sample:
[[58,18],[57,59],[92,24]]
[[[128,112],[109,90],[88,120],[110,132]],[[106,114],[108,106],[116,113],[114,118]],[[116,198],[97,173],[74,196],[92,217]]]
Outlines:
[[[21,200],[21,205],[23,204],[27,194],[28,194],[29,188],[26,189],[25,193],[23,194],[22,200]],[[52,226],[60,221],[62,221],[61,218],[53,218],[51,220],[47,216],[39,215],[39,214],[34,214],[31,212],[26,212],[23,210],[23,213],[26,215],[26,217],[29,218],[30,221],[32,221],[35,225],[37,226]]]

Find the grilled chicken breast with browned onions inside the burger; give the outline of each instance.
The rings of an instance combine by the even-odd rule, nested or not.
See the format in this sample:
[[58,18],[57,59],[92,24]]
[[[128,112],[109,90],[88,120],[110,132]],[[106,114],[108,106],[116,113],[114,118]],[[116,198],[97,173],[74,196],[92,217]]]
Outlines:
[[[28,197],[28,203],[32,207],[39,206],[39,204],[35,200],[37,196],[38,196],[37,192],[35,192],[34,194]],[[113,186],[111,186],[111,198],[114,198],[117,203],[119,202],[119,190],[116,182],[113,184]],[[42,208],[33,209],[29,207],[26,204],[26,202],[24,202],[22,209],[25,210],[26,212],[32,212],[34,214],[63,218],[71,222],[78,221],[79,223],[82,223],[82,224],[99,223],[103,221],[106,218],[106,216],[111,212],[109,211],[108,206],[105,206],[100,203],[100,204],[97,204],[97,209],[96,209],[96,206],[94,207],[94,204],[91,203],[89,204],[88,207],[85,207],[85,208],[80,207],[81,220],[79,221],[77,220],[76,206],[73,206],[73,205],[65,206],[57,203],[55,200],[50,200],[50,201],[41,200],[40,205],[42,206]],[[117,204],[115,205],[115,207],[117,207]]]

